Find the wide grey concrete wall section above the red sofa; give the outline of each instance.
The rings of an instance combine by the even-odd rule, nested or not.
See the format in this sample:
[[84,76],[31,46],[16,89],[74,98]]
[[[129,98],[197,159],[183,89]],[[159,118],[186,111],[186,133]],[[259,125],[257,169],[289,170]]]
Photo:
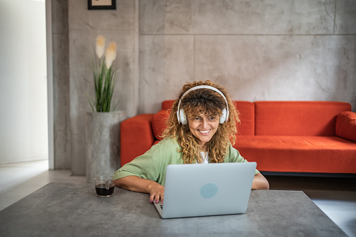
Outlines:
[[139,8],[139,113],[157,112],[192,80],[218,82],[235,100],[346,101],[356,111],[353,0],[143,0]]

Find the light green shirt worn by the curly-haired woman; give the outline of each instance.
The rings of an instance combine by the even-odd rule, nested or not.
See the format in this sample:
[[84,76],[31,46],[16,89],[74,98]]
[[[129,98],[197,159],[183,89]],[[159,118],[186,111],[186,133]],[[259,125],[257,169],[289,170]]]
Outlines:
[[[124,178],[130,175],[135,175],[140,178],[145,178],[158,182],[160,185],[166,181],[166,167],[169,164],[183,164],[182,153],[178,152],[180,145],[173,138],[164,138],[145,154],[136,157],[131,162],[122,166],[118,171],[115,171],[113,177],[115,180]],[[238,150],[229,146],[229,154],[225,157],[224,163],[248,162],[241,157]],[[202,164],[204,165],[204,164]],[[259,171],[255,171],[255,174]]]

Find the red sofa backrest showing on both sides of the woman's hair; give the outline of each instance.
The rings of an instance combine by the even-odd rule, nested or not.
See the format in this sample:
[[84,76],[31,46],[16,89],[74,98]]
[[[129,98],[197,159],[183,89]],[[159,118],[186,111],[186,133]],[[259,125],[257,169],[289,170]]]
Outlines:
[[[162,131],[166,129],[166,122],[171,113],[170,108],[173,106],[173,100],[163,101],[162,110],[153,115],[152,130],[153,135],[157,140],[162,140],[160,137]],[[234,101],[235,108],[240,113],[241,124],[238,124],[238,134],[254,135],[255,134],[255,104],[249,101]],[[176,113],[176,111],[174,112]]]

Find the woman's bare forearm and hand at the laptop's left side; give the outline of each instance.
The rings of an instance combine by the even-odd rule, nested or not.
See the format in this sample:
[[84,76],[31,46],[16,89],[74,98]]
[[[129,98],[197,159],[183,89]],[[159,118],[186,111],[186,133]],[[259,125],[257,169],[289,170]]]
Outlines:
[[150,194],[151,203],[153,201],[158,203],[159,199],[161,199],[163,203],[164,186],[159,185],[159,183],[152,180],[146,180],[145,178],[132,175],[115,180],[115,185],[130,191]]

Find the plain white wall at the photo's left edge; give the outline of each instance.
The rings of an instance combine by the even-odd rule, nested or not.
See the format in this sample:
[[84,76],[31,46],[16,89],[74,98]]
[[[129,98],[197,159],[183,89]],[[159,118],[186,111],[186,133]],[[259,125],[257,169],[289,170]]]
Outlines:
[[48,158],[45,1],[0,0],[0,163]]

